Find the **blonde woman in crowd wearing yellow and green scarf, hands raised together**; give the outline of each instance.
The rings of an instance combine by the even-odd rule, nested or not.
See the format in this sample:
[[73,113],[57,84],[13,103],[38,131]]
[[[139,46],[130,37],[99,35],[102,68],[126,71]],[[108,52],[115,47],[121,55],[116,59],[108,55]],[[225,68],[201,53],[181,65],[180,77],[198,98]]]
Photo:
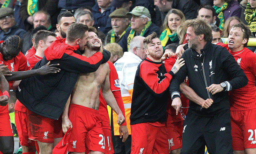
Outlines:
[[185,20],[185,16],[180,10],[171,9],[167,13],[163,22],[163,32],[160,36],[163,48],[171,43],[182,44],[186,31],[182,29],[181,24]]

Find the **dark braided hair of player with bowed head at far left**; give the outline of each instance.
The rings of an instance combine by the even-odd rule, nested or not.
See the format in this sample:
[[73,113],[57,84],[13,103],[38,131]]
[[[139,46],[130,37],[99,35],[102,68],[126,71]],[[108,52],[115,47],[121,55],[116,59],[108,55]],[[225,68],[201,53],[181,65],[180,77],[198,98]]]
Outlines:
[[23,40],[18,35],[12,35],[5,40],[6,48],[21,51],[23,46]]

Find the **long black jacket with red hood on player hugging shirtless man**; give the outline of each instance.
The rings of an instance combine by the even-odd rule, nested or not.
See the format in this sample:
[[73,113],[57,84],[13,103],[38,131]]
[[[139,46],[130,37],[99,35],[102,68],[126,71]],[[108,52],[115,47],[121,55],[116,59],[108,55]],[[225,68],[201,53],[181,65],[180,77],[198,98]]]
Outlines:
[[110,53],[104,50],[103,56],[98,59],[95,56],[86,58],[79,50],[75,50],[78,46],[68,46],[65,40],[54,41],[45,50],[45,57],[33,68],[41,68],[50,60],[51,64],[60,64],[60,72],[23,79],[16,90],[17,99],[28,110],[54,120],[59,119],[79,73],[95,72],[110,57]]

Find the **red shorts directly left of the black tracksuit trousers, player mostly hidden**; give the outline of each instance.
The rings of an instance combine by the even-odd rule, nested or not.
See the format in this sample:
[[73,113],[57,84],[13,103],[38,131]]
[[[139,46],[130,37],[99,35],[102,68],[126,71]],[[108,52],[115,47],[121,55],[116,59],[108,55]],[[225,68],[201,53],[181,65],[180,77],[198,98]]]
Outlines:
[[167,133],[170,151],[182,147],[183,121],[167,123]]

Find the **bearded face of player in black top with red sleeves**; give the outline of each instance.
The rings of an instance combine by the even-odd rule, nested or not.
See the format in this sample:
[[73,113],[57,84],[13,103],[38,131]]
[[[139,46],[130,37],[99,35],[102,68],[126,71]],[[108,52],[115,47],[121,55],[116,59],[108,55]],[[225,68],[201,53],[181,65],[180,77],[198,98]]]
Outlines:
[[154,38],[149,44],[147,44],[145,53],[152,61],[161,61],[161,57],[163,56],[163,46],[159,38]]

